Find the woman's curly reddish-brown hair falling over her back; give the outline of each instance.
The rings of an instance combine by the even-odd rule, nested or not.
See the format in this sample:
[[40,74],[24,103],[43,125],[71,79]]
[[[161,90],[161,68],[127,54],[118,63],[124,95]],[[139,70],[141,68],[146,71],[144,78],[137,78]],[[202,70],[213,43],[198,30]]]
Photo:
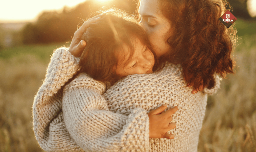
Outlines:
[[158,1],[173,31],[167,33],[169,54],[159,61],[181,64],[187,84],[198,90],[202,86],[212,88],[215,74],[224,77],[226,73],[233,73],[231,52],[236,30],[233,26],[227,29],[218,20],[226,12],[226,1]]

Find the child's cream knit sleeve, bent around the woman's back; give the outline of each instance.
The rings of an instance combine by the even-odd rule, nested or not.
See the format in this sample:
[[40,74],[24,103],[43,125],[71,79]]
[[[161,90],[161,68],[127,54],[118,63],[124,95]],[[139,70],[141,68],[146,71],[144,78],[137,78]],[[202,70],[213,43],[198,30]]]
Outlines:
[[128,115],[109,111],[102,97],[106,85],[80,74],[63,90],[63,115],[67,130],[84,151],[149,151],[146,110]]

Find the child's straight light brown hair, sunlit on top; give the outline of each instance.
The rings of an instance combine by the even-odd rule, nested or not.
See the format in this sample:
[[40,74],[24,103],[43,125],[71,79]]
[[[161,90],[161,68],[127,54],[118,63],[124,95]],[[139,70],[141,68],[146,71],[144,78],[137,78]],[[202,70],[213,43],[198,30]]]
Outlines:
[[134,16],[118,9],[101,12],[101,19],[86,29],[82,39],[87,44],[81,54],[78,74],[87,73],[98,81],[113,84],[121,78],[116,75],[115,69],[118,64],[116,53],[126,46],[130,50],[129,59],[131,59],[137,39],[153,52],[157,61],[147,35],[138,21]]

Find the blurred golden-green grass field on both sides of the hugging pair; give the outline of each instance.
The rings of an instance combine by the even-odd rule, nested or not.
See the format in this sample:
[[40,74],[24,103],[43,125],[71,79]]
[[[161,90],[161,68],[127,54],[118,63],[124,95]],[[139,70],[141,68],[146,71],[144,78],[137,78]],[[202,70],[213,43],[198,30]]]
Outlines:
[[[218,93],[208,97],[200,152],[256,151],[256,23],[236,23],[243,39],[234,51],[236,74],[227,75]],[[43,151],[32,129],[33,98],[52,51],[64,44],[0,51],[0,152]]]

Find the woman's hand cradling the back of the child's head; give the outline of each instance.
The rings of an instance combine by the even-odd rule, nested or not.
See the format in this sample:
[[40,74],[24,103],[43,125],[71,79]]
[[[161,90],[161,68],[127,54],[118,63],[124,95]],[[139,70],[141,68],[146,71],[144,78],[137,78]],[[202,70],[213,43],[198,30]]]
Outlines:
[[88,25],[97,22],[99,19],[99,15],[94,16],[93,18],[90,18],[86,22],[84,22],[83,25],[75,31],[74,37],[68,49],[72,55],[74,55],[75,57],[79,57],[81,55],[84,47],[86,46],[86,42],[84,40],[81,40],[83,32],[86,30]]

